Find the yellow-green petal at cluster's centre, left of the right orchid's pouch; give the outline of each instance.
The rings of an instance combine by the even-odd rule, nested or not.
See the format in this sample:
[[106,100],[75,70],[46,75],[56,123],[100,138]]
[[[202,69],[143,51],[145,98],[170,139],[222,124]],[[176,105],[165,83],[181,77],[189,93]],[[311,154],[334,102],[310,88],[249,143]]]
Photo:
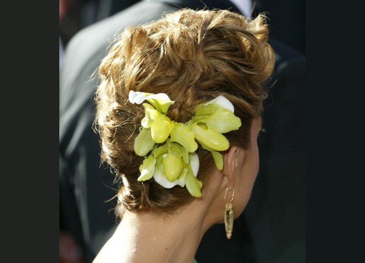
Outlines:
[[170,137],[172,142],[181,144],[191,153],[198,149],[198,144],[195,141],[194,131],[182,123],[174,123],[174,128],[171,130]]

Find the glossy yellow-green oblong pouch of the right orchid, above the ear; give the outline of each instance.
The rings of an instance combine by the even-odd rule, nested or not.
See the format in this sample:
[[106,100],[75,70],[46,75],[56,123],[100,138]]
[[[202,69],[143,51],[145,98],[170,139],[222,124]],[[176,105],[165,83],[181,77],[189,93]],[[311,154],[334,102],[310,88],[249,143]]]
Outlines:
[[211,128],[199,126],[196,123],[193,123],[192,127],[195,139],[201,145],[207,146],[213,151],[225,151],[229,148],[229,141],[224,135],[216,133]]

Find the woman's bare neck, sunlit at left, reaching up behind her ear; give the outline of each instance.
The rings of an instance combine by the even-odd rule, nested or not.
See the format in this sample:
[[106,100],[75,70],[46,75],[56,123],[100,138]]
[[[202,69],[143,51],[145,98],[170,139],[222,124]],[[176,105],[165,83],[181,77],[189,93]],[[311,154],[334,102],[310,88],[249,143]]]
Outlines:
[[217,169],[212,173],[215,180],[205,183],[203,197],[173,214],[127,210],[105,245],[108,257],[118,258],[118,262],[193,262],[204,233],[224,219],[228,180]]

